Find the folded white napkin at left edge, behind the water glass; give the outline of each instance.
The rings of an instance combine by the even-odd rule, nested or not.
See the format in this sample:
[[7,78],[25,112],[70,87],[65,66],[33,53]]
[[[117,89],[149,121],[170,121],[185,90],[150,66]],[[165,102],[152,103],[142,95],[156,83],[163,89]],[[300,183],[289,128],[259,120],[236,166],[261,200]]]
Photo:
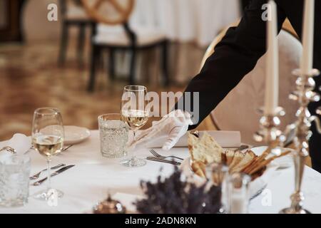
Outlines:
[[[2,147],[12,147],[18,155],[24,155],[31,147],[31,139],[23,134],[15,134],[11,140],[0,146],[0,150]],[[9,155],[11,155],[11,152],[1,151],[0,159],[5,159]]]

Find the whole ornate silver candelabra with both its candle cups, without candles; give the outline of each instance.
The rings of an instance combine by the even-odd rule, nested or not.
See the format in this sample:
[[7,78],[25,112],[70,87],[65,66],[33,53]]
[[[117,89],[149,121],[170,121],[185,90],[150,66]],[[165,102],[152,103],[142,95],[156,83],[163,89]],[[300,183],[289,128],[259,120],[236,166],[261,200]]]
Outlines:
[[[282,108],[277,108],[272,115],[263,115],[260,119],[260,130],[255,133],[255,140],[258,142],[265,141],[268,146],[267,152],[273,152],[275,147],[283,146],[284,142],[288,140],[295,133],[294,145],[295,155],[293,156],[295,164],[295,192],[291,195],[292,204],[290,207],[282,209],[282,214],[307,214],[310,213],[307,209],[303,209],[304,195],[301,190],[303,172],[305,169],[305,160],[309,155],[309,140],[312,135],[310,127],[312,122],[315,122],[317,131],[321,134],[320,120],[315,115],[311,115],[308,110],[310,102],[317,102],[320,100],[320,95],[315,93],[315,81],[313,77],[319,76],[320,72],[313,69],[309,74],[303,74],[300,69],[293,71],[297,76],[296,86],[297,90],[290,94],[290,99],[297,100],[300,108],[297,110],[297,121],[288,125],[284,133],[279,129],[280,116],[285,115]],[[321,107],[317,108],[317,114],[321,115]],[[278,151],[278,150],[275,150]]]

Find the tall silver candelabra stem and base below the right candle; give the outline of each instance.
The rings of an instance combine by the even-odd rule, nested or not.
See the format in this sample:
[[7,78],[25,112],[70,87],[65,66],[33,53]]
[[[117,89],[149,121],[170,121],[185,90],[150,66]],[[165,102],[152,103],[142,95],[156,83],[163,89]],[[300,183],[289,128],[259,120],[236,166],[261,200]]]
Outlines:
[[[320,95],[313,92],[315,81],[313,77],[319,76],[320,72],[313,69],[310,73],[304,74],[300,69],[293,71],[297,76],[297,90],[291,93],[290,99],[297,100],[300,108],[297,110],[297,121],[288,126],[288,129],[295,129],[295,192],[291,195],[292,204],[290,207],[282,209],[281,214],[310,214],[307,209],[303,209],[304,195],[301,191],[303,172],[305,169],[305,160],[309,155],[309,143],[312,132],[310,127],[313,121],[317,125],[317,130],[321,133],[320,120],[317,116],[311,115],[308,110],[310,102],[320,100]],[[317,113],[321,113],[321,108],[317,108]]]

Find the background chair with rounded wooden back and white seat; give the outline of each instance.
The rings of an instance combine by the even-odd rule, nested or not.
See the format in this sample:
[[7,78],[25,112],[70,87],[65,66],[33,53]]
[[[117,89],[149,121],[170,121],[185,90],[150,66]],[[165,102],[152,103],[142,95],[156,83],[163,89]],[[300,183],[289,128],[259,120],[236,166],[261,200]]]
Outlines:
[[[135,84],[138,53],[153,48],[161,48],[163,81],[165,85],[168,85],[168,41],[158,28],[138,26],[131,23],[130,18],[135,7],[134,0],[97,0],[94,4],[88,4],[86,0],[82,2],[88,15],[96,22],[101,23],[97,26],[96,33],[93,34],[91,40],[91,72],[88,91],[94,89],[96,69],[104,50],[110,53],[108,74],[111,80],[115,77],[115,51],[123,50],[131,53],[129,81],[131,84]],[[122,4],[124,2],[126,4]],[[112,13],[108,14],[108,7],[110,8],[109,12],[114,11],[113,15]]]

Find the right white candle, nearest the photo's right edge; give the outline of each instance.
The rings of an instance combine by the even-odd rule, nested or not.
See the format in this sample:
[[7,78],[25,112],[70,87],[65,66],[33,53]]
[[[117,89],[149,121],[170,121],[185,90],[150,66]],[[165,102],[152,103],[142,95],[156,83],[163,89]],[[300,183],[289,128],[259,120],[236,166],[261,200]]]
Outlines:
[[303,54],[301,59],[302,74],[309,74],[313,63],[313,35],[315,24],[315,0],[305,0],[305,15],[303,20]]

